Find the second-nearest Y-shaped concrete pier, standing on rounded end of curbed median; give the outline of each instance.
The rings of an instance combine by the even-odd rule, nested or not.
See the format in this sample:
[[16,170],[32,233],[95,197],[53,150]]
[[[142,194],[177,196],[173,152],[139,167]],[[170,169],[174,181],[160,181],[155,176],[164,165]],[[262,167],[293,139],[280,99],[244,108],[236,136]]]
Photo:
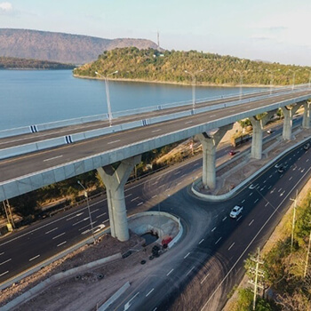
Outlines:
[[213,189],[216,187],[216,148],[226,132],[232,129],[232,126],[233,124],[227,124],[220,127],[217,132],[203,132],[196,135],[203,148],[202,181],[205,188]]

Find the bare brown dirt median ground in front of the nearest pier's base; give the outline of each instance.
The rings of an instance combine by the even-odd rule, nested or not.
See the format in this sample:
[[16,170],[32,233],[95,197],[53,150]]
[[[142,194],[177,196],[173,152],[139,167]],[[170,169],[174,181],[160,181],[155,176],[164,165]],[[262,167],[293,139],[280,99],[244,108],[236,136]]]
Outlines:
[[[52,275],[68,271],[88,262],[106,258],[116,253],[125,254],[132,251],[126,258],[113,260],[101,267],[88,269],[84,273],[76,273],[68,278],[52,283],[41,291],[35,298],[23,303],[14,310],[96,310],[111,295],[119,290],[127,281],[134,281],[136,277],[148,273],[156,268],[159,258],[149,259],[152,254],[150,244],[142,246],[145,240],[138,235],[131,233],[127,242],[119,242],[110,235],[103,235],[95,244],[85,245],[63,259],[53,262],[48,267],[42,268],[34,275],[24,278],[1,292],[1,307],[20,296],[23,292],[29,291],[36,284],[44,281]],[[145,260],[145,264],[141,264]],[[155,265],[156,264],[156,265]],[[1,308],[2,309],[2,308]]]

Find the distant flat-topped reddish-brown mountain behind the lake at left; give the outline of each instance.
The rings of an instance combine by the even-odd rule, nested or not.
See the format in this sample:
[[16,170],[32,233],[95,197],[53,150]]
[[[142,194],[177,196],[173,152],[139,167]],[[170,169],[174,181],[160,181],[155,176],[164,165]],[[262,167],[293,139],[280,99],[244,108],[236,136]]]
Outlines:
[[0,56],[6,57],[77,65],[97,60],[104,51],[125,46],[156,48],[154,42],[146,39],[104,39],[49,31],[0,28]]

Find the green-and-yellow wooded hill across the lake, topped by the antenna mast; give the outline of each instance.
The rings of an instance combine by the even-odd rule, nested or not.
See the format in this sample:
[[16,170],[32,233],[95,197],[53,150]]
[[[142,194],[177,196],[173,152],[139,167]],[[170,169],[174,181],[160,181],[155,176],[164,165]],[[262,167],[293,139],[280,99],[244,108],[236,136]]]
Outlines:
[[[274,71],[274,84],[292,84],[293,73],[297,70],[295,84],[307,84],[311,68],[267,63],[263,61],[241,60],[232,56],[196,51],[158,52],[154,49],[139,50],[123,48],[104,52],[99,59],[74,70],[75,76],[95,77],[95,71],[102,76],[118,73],[110,78],[132,79],[155,82],[191,84],[195,73],[197,84],[243,84],[268,85]],[[185,72],[187,70],[187,72]],[[202,72],[198,72],[203,70]]]

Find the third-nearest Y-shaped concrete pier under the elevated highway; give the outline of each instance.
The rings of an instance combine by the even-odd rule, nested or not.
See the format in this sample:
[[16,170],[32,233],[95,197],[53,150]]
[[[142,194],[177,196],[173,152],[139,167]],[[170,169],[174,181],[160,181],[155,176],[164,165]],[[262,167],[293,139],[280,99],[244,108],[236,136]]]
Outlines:
[[257,116],[251,116],[252,139],[251,139],[251,157],[261,159],[262,156],[262,130],[276,110],[269,111],[266,116],[259,119]]

